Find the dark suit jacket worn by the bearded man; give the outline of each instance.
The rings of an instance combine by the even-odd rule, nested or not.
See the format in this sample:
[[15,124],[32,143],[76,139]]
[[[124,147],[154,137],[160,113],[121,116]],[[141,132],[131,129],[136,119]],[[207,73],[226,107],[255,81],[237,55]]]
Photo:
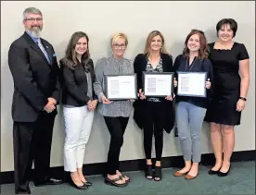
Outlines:
[[[53,46],[41,38],[49,56],[27,32],[11,43],[8,65],[13,77],[12,118],[17,122],[34,122],[47,104],[47,98],[59,101],[59,67]],[[57,114],[57,109],[52,114]]]

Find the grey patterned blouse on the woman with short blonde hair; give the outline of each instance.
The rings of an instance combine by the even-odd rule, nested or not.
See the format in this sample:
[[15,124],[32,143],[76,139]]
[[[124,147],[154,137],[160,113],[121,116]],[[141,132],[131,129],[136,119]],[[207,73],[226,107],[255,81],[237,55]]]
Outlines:
[[132,103],[130,101],[113,101],[111,104],[102,104],[101,97],[105,95],[104,75],[134,74],[134,66],[130,60],[126,58],[116,59],[113,55],[103,57],[96,62],[95,73],[94,90],[100,103],[98,104],[100,115],[129,117],[132,112]]

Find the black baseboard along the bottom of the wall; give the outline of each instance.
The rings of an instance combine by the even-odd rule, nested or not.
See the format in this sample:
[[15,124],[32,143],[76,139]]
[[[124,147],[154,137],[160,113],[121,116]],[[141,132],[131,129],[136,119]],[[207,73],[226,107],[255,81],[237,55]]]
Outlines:
[[[252,151],[239,151],[233,152],[231,157],[231,162],[242,162],[242,161],[255,161],[256,150]],[[162,158],[162,167],[182,167],[184,165],[184,160],[182,156],[170,156]],[[200,165],[213,165],[214,164],[214,155],[213,153],[204,153],[201,155]],[[104,175],[105,174],[105,165],[106,163],[98,164],[88,164],[83,165],[84,174],[86,176],[92,175]],[[122,172],[126,171],[138,171],[143,170],[145,165],[145,159],[129,160],[122,161],[120,163],[120,170]],[[56,166],[50,168],[50,175],[52,177],[61,177],[66,181],[69,180],[69,174],[64,172],[63,166]],[[8,184],[14,182],[14,171],[1,172],[1,184]]]

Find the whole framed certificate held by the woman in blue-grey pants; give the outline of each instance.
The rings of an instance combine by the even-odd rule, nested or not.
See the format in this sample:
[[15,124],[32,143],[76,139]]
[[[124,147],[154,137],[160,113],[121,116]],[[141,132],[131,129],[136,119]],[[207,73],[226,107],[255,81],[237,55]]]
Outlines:
[[177,72],[179,96],[206,97],[206,72]]

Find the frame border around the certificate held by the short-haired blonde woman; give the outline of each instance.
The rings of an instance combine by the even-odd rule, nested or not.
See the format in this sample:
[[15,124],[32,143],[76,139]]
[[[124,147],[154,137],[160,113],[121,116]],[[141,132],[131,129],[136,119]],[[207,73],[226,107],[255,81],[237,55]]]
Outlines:
[[[109,78],[117,78],[117,77],[131,77],[134,79],[134,92],[130,97],[109,97]],[[110,101],[122,101],[122,100],[129,100],[129,99],[137,99],[137,75],[136,74],[120,74],[120,75],[104,75],[104,91],[106,98]]]

